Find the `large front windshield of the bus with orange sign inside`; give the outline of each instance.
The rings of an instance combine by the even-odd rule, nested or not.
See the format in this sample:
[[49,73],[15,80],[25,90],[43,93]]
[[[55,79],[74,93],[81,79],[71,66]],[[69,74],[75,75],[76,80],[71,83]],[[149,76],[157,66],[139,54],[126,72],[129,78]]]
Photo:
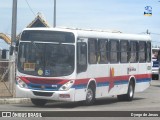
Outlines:
[[58,77],[74,71],[74,45],[20,42],[18,70],[21,73]]

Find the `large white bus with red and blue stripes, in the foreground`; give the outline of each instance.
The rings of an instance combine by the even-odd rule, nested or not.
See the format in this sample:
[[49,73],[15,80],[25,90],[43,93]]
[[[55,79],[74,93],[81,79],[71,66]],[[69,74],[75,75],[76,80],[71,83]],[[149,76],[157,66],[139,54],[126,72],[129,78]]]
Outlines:
[[26,28],[19,41],[16,96],[36,106],[48,100],[117,96],[131,101],[151,83],[148,35],[96,30]]

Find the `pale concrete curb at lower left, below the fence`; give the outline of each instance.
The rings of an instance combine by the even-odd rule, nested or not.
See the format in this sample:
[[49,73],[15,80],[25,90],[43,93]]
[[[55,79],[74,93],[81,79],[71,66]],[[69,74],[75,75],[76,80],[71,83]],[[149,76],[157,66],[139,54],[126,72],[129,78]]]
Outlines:
[[0,98],[0,104],[31,103],[29,98]]

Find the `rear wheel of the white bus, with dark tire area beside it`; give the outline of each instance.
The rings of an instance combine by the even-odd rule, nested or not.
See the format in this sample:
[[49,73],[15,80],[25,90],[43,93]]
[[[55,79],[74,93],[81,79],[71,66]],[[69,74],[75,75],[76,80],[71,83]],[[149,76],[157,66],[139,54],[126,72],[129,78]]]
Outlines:
[[134,97],[134,83],[130,81],[127,94],[117,95],[119,101],[132,101]]

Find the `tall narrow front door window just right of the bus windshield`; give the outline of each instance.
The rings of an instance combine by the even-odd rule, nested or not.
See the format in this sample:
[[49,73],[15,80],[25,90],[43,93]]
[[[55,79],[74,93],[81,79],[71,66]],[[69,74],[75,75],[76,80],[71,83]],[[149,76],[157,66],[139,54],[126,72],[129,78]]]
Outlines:
[[77,43],[77,72],[84,72],[87,69],[87,44]]

